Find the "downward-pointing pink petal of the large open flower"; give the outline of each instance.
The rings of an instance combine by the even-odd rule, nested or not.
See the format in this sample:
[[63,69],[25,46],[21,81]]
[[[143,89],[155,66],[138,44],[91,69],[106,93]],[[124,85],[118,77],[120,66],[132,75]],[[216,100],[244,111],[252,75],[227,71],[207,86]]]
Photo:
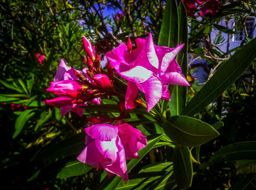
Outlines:
[[147,110],[150,111],[162,97],[162,82],[155,76],[151,76],[146,82],[142,83],[145,93]]

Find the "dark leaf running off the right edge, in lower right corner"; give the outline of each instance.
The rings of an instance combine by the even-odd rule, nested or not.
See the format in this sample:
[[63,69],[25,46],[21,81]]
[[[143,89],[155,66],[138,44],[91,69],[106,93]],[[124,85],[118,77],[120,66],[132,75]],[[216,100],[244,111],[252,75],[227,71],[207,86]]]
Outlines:
[[256,159],[256,141],[233,143],[217,150],[208,162],[225,160]]

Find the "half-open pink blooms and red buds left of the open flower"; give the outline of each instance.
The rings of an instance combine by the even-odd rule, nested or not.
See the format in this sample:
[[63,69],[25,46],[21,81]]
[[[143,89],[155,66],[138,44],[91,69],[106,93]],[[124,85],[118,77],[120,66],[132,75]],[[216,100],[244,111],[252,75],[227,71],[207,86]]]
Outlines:
[[100,97],[108,95],[108,90],[112,86],[108,76],[102,74],[99,55],[95,56],[94,47],[84,36],[83,47],[88,54],[87,59],[83,58],[87,68],[78,71],[61,60],[54,82],[51,82],[50,88],[47,89],[59,97],[45,100],[45,103],[60,107],[61,116],[68,111],[83,116],[84,107],[88,103],[100,104]]

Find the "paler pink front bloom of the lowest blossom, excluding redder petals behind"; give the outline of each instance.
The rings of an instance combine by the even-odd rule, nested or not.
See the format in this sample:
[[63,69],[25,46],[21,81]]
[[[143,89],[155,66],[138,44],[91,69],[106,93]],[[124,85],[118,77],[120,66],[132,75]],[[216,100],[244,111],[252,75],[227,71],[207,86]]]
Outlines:
[[97,170],[105,169],[128,181],[124,146],[118,136],[118,127],[110,124],[95,124],[85,129],[86,148],[78,160]]

